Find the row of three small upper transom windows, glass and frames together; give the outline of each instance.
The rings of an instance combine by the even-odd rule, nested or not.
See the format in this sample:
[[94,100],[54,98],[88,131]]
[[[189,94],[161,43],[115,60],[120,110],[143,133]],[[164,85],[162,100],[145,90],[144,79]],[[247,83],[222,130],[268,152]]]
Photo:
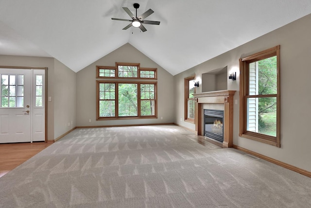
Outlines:
[[116,66],[96,66],[97,78],[156,79],[155,68],[140,68],[139,63],[120,63]]

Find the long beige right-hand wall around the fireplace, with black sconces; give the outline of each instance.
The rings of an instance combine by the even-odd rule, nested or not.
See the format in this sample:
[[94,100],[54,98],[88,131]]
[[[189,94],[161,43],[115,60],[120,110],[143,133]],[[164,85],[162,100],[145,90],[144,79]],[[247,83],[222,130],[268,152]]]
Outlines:
[[[256,38],[236,49],[210,59],[181,74],[174,76],[175,103],[183,103],[184,77],[201,74],[224,65],[230,72],[237,72],[237,80],[228,79],[228,89],[237,90],[234,99],[233,144],[295,167],[311,171],[311,15],[298,19],[262,37]],[[280,45],[281,78],[281,148],[239,137],[239,58]],[[197,92],[201,92],[198,88]],[[176,105],[175,122],[194,130],[194,125],[180,121],[184,106]]]

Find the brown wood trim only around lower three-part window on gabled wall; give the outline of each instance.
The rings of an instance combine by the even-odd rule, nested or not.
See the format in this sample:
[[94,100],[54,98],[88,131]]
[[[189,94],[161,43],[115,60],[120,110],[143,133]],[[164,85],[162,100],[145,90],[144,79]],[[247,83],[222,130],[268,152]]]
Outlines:
[[[121,78],[121,77],[120,77]],[[116,84],[115,95],[115,116],[100,117],[99,116],[99,85],[100,83],[114,83]],[[118,84],[137,84],[138,85],[138,115],[137,116],[119,116],[119,97]],[[155,115],[140,115],[140,84],[154,84],[155,85]],[[121,80],[96,80],[96,120],[119,120],[119,119],[146,119],[157,118],[157,82],[156,81],[121,81]]]

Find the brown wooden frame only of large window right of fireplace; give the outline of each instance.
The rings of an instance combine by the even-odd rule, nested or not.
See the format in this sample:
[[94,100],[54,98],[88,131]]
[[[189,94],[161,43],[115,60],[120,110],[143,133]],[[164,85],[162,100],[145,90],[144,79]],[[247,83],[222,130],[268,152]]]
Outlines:
[[[249,86],[249,63],[276,56],[277,92],[276,95],[256,95],[256,97],[276,97],[276,136],[247,131],[247,98]],[[280,46],[261,51],[251,56],[240,58],[240,127],[239,136],[253,139],[280,148]],[[253,97],[253,96],[252,96]]]

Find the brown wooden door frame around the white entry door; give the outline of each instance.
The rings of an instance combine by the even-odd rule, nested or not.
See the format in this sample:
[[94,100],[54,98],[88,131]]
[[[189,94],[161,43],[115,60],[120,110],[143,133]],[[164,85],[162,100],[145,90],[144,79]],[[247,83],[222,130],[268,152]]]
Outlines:
[[45,128],[45,138],[44,142],[48,143],[48,67],[23,67],[23,66],[0,66],[0,68],[5,68],[5,69],[40,69],[40,70],[45,70],[45,87],[44,87],[44,93],[45,93],[45,98],[44,98],[44,113],[45,113],[45,120],[44,120],[44,128]]

